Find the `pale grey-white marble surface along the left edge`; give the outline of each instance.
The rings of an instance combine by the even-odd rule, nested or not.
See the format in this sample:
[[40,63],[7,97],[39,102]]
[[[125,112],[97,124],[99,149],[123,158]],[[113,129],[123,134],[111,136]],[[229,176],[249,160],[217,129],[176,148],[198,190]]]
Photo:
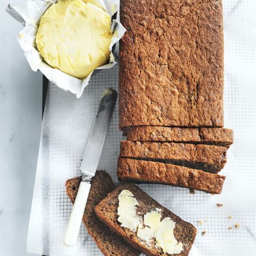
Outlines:
[[41,132],[42,74],[17,42],[21,25],[0,1],[0,255],[25,256]]

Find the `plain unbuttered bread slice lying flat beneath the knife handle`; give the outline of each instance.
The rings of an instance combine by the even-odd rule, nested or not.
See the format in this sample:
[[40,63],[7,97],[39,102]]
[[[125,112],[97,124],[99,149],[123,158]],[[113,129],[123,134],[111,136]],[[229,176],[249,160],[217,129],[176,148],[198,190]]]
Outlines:
[[[67,195],[73,204],[80,182],[81,177],[66,181]],[[111,231],[107,226],[103,225],[94,212],[94,207],[114,188],[114,183],[107,172],[96,172],[83,215],[84,225],[105,256],[138,256],[141,253]]]

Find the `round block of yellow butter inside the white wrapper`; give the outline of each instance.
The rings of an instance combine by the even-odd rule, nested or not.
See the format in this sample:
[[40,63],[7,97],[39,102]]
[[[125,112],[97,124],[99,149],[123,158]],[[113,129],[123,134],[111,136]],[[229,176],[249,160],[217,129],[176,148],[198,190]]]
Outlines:
[[92,1],[60,0],[51,5],[36,35],[45,62],[77,78],[105,65],[110,56],[111,17]]

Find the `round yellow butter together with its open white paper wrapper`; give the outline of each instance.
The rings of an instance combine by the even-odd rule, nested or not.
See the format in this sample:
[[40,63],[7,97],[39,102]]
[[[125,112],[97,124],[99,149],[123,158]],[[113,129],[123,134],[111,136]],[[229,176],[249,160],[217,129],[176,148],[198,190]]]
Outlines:
[[14,10],[26,25],[18,41],[32,70],[81,97],[95,70],[115,65],[125,33],[118,0],[28,0]]

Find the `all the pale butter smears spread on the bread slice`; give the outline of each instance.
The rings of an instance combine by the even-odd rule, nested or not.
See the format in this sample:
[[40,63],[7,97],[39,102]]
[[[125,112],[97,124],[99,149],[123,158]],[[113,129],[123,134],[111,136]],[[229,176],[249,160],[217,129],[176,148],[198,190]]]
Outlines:
[[182,243],[178,243],[174,237],[175,222],[171,218],[161,220],[161,209],[146,213],[142,219],[136,212],[139,203],[131,191],[123,190],[118,199],[117,220],[121,223],[121,227],[137,232],[141,241],[149,246],[160,247],[164,253],[179,254],[183,250]]

